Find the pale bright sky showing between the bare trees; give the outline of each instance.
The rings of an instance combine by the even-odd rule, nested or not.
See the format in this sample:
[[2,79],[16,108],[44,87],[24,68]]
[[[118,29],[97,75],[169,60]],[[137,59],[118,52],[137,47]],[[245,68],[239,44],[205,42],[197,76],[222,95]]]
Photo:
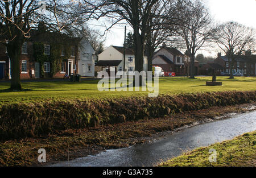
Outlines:
[[[245,26],[253,27],[256,29],[256,0],[204,0],[205,5],[208,7],[210,14],[216,23],[227,21],[235,21],[242,23]],[[106,22],[90,22],[90,24],[106,24]],[[100,32],[104,32],[105,27],[88,25],[91,28],[96,28]],[[127,27],[127,32],[132,31],[131,27]],[[104,36],[105,47],[110,45],[123,45],[125,37],[125,28],[122,25],[116,25],[110,29]],[[184,52],[184,51],[182,51]],[[203,53],[204,56],[216,57],[217,53],[221,52],[218,48],[209,48],[197,52]]]

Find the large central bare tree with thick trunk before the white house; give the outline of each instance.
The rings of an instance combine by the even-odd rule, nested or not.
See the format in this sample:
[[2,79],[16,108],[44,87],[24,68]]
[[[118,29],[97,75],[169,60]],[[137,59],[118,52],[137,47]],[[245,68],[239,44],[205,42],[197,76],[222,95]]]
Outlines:
[[86,5],[94,7],[92,18],[108,18],[112,26],[125,20],[133,27],[135,71],[139,72],[143,71],[143,54],[152,8],[156,3],[161,5],[161,2],[162,5],[166,4],[163,0],[84,0]]

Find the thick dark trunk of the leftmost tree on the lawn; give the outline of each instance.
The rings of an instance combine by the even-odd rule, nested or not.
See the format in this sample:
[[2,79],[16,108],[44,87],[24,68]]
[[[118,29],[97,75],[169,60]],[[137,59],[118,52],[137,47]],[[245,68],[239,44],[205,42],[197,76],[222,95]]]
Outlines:
[[7,52],[11,60],[11,90],[21,90],[20,84],[20,55],[22,42],[18,39],[10,41],[7,45]]

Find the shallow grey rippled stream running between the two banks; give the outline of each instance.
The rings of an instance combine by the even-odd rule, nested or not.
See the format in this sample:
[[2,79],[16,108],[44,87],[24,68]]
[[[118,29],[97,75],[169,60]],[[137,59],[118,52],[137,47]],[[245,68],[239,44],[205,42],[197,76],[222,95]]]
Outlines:
[[152,166],[160,160],[179,156],[183,151],[209,146],[254,130],[256,130],[256,111],[193,126],[153,143],[106,150],[95,156],[86,156],[51,166]]

